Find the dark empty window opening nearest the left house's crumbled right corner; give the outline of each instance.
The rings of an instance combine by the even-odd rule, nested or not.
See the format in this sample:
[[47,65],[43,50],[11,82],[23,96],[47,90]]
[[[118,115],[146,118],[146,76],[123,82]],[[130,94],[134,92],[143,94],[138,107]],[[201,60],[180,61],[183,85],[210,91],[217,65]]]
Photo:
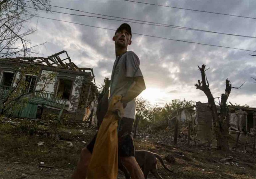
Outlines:
[[69,100],[72,88],[71,80],[60,79],[57,94],[61,95],[62,99]]

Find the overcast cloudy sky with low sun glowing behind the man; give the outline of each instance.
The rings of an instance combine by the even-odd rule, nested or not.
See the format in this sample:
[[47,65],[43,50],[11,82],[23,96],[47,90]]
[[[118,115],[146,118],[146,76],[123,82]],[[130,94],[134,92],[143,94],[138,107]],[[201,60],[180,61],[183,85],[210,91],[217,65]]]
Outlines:
[[[211,11],[256,18],[256,1],[253,0],[137,0],[159,5]],[[153,6],[127,2],[123,0],[52,0],[52,5],[83,10],[110,16],[150,21],[156,23],[183,26],[194,29],[217,31],[247,36],[256,36],[256,19],[240,18],[203,12]],[[52,7],[54,11],[91,15],[76,11]],[[39,16],[90,26],[117,29],[122,23],[90,17],[78,17],[59,13],[39,11]],[[102,16],[101,16],[102,17]],[[177,40],[200,42],[248,50],[256,50],[256,39],[201,31],[181,30],[168,27],[129,23],[132,32]],[[43,55],[50,56],[66,50],[71,60],[79,67],[93,68],[96,84],[103,83],[111,76],[115,60],[113,30],[86,27],[66,22],[34,18],[29,27],[37,27],[30,36],[32,45],[47,41],[37,48]],[[147,90],[143,97],[152,103],[164,105],[172,99],[184,99],[206,102],[207,98],[194,84],[201,75],[197,65],[206,64],[207,79],[214,97],[225,91],[225,79],[232,86],[229,101],[256,107],[256,84],[250,77],[256,77],[255,52],[213,47],[185,42],[166,40],[133,34],[129,51],[140,58],[140,67],[144,75]]]

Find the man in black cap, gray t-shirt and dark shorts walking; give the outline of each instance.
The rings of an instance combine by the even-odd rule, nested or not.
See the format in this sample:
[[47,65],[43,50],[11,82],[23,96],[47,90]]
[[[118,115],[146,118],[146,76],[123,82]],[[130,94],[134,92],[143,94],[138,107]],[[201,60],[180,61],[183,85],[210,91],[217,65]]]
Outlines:
[[[113,37],[113,41],[115,41],[116,60],[111,75],[109,101],[114,95],[123,96],[122,100],[119,101],[124,105],[124,115],[118,124],[118,156],[133,179],[144,179],[143,173],[135,159],[131,132],[135,119],[135,98],[146,87],[139,68],[140,61],[138,56],[132,51],[127,52],[128,45],[132,43],[131,38],[132,31],[128,24],[122,24],[116,30],[115,36]],[[96,136],[97,134],[89,145],[82,149],[72,178],[85,178]]]

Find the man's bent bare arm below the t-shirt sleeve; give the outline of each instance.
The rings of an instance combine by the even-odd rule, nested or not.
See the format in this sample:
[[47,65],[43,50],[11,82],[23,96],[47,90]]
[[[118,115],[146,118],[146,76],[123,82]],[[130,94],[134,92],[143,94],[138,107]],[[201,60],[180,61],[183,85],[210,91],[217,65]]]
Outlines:
[[[131,78],[131,77],[127,77]],[[135,97],[137,97],[143,90],[146,89],[145,82],[143,77],[134,77],[133,78],[135,84],[130,88],[126,95],[122,97],[121,102],[123,104],[127,104],[129,101],[133,100]]]

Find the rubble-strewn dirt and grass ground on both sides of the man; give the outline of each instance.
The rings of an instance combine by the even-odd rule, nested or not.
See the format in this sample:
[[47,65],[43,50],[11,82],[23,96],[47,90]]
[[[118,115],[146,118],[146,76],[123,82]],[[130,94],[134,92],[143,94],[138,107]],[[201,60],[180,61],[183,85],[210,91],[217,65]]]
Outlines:
[[[0,178],[69,178],[80,150],[95,132],[83,125],[57,126],[53,130],[51,125],[33,122],[16,126],[0,123]],[[170,173],[159,162],[158,171],[163,178],[256,178],[256,155],[252,153],[224,153],[193,143],[190,147],[184,143],[174,146],[145,133],[139,133],[134,142],[137,150],[161,155],[166,166],[174,171]],[[168,155],[175,162],[165,160]],[[221,162],[223,158],[229,159]],[[40,162],[51,168],[39,166]],[[122,172],[118,178],[124,178]]]

